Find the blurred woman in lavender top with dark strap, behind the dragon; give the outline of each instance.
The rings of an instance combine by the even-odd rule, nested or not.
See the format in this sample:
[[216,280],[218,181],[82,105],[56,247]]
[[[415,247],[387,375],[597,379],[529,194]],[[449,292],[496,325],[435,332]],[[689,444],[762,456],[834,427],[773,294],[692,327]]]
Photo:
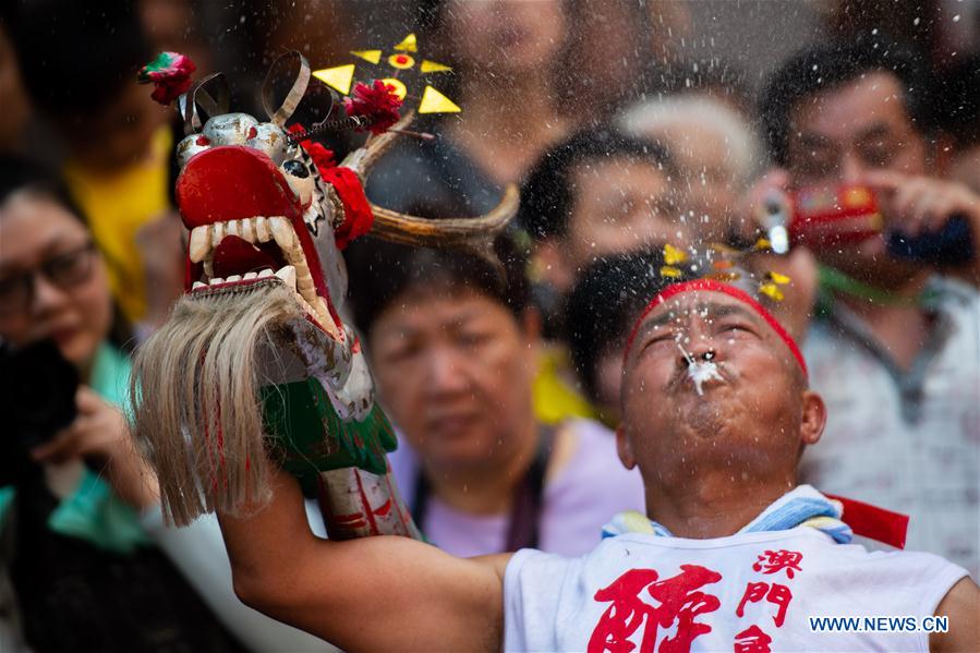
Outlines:
[[508,237],[495,250],[506,279],[473,254],[349,251],[354,319],[407,445],[391,465],[423,532],[449,553],[580,555],[613,513],[642,510],[642,480],[600,424],[535,420],[540,317],[523,255]]

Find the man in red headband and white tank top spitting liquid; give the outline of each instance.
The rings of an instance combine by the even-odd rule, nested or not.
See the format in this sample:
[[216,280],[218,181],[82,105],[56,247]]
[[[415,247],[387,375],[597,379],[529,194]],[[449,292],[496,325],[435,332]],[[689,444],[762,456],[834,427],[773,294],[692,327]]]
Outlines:
[[[824,403],[791,337],[745,292],[695,280],[654,298],[627,346],[622,415],[620,458],[643,475],[646,516],[616,516],[581,558],[317,540],[280,474],[270,506],[220,516],[235,589],[344,650],[980,649],[964,569],[849,544],[849,508],[842,520],[797,484]],[[933,615],[947,632],[929,632],[942,630]]]

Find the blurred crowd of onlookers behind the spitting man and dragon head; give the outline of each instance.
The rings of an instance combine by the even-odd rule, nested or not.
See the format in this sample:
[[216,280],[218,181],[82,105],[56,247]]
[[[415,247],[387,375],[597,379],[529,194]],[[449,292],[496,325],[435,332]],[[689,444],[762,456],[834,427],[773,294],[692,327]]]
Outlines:
[[[465,253],[346,251],[349,318],[404,443],[392,469],[436,545],[579,555],[614,512],[642,510],[610,430],[665,245],[745,251],[815,196],[832,233],[739,259],[789,277],[774,310],[828,406],[801,482],[910,515],[908,548],[977,578],[980,3],[11,0],[0,650],[325,646],[238,604],[216,524],[165,527],[128,438],[129,354],[183,292],[186,246],[181,124],[134,81],[179,51],[259,116],[281,52],[330,68],[409,33],[452,68],[440,90],[462,111],[419,121],[435,140],[403,140],[367,195],[438,219],[521,189],[495,243],[506,281]],[[300,120],[322,118],[325,93]],[[361,138],[324,135],[337,160]],[[55,413],[66,425],[47,428]]]

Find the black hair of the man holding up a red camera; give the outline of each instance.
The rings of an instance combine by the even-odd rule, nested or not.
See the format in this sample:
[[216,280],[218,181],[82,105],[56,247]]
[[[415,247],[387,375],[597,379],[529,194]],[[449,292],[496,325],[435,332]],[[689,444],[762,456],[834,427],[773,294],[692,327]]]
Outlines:
[[770,77],[760,97],[759,113],[773,160],[779,166],[787,162],[789,116],[796,106],[876,71],[898,78],[912,124],[922,134],[932,133],[929,71],[921,65],[920,58],[880,34],[862,35],[801,50]]

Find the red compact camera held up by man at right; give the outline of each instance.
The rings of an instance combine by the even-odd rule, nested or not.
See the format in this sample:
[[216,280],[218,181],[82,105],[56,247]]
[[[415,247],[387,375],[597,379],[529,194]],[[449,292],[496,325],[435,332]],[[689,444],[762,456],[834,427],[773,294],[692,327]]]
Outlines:
[[859,243],[882,231],[878,198],[869,186],[803,188],[791,192],[788,201],[793,245],[827,249]]

